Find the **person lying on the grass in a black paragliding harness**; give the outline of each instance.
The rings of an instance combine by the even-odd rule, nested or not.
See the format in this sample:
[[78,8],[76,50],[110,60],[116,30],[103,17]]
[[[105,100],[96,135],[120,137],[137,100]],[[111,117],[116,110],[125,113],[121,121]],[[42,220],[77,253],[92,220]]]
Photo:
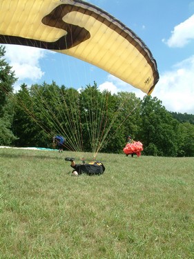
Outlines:
[[72,167],[72,175],[81,175],[81,173],[86,173],[87,175],[101,175],[105,171],[104,164],[101,162],[89,162],[85,164],[76,164],[74,157],[66,157],[66,161],[70,161],[70,166]]

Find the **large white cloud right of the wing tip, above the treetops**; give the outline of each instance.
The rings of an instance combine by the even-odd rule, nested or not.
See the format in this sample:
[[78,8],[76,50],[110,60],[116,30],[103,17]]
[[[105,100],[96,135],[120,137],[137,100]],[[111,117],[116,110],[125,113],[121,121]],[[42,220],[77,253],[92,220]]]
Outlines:
[[194,55],[160,76],[152,96],[168,111],[194,114]]

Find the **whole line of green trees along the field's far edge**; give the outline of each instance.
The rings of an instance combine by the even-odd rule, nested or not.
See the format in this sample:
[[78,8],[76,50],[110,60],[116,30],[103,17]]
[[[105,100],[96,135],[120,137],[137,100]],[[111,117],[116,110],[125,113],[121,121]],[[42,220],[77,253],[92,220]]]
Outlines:
[[126,135],[144,145],[143,155],[194,156],[194,115],[172,113],[156,97],[111,94],[93,86],[81,90],[52,84],[21,84],[0,46],[0,145],[52,148],[66,137],[70,151],[123,153]]

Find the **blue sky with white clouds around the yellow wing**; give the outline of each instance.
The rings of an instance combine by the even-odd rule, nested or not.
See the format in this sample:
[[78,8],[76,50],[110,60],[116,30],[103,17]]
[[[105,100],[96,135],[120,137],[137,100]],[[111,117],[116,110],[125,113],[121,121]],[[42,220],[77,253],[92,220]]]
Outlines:
[[[157,62],[159,82],[151,94],[166,110],[194,115],[194,0],[90,0],[122,21],[144,41]],[[81,88],[93,85],[111,93],[145,93],[84,61],[48,50],[6,45],[6,60],[23,83]]]

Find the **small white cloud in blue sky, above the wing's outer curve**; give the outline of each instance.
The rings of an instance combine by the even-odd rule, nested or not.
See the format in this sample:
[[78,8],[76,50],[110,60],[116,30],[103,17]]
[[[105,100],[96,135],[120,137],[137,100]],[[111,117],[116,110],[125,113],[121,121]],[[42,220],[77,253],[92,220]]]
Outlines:
[[194,39],[194,15],[175,26],[171,32],[171,37],[167,41],[165,39],[162,39],[162,41],[170,48],[182,48],[192,39]]

